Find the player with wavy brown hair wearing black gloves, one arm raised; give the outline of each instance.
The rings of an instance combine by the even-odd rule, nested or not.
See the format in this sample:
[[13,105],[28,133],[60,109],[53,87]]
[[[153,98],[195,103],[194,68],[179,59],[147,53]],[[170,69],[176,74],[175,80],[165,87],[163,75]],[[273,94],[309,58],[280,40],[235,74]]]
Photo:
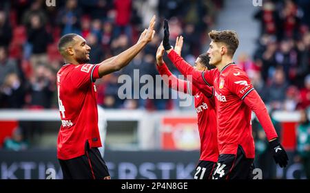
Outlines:
[[271,153],[280,167],[287,166],[287,153],[280,144],[266,106],[252,86],[245,71],[242,71],[232,58],[239,40],[236,32],[211,31],[211,43],[207,54],[209,64],[216,69],[198,71],[183,63],[169,44],[169,26],[164,24],[163,47],[178,70],[192,75],[196,84],[214,87],[218,123],[218,166],[213,179],[251,179],[255,157],[254,139],[251,134],[251,110],[256,113],[269,140]]

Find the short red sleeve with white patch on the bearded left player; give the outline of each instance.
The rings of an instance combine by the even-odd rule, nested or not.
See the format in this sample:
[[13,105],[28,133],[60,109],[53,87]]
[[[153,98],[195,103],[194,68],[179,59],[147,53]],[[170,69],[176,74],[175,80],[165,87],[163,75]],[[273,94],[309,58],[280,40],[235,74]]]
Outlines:
[[84,87],[99,78],[99,65],[78,65],[72,70],[70,78],[76,87]]

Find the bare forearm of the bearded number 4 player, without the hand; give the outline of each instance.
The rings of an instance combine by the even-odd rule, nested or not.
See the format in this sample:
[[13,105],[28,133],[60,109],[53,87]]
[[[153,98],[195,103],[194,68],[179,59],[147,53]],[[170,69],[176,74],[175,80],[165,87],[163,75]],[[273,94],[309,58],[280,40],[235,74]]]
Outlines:
[[134,58],[134,56],[136,56],[143,49],[143,47],[145,47],[146,44],[147,41],[140,41],[129,49],[126,49],[121,54],[104,60],[102,63],[99,64],[99,76],[105,76],[114,71],[118,71],[128,65],[132,58]]

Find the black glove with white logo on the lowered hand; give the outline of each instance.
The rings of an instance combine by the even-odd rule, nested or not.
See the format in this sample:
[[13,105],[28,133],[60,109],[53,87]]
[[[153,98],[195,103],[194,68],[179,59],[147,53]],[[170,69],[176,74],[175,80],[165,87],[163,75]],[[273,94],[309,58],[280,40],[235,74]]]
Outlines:
[[287,161],[289,158],[287,157],[287,152],[282,147],[278,139],[269,142],[271,148],[271,154],[276,163],[279,164],[281,168],[285,168],[287,166]]

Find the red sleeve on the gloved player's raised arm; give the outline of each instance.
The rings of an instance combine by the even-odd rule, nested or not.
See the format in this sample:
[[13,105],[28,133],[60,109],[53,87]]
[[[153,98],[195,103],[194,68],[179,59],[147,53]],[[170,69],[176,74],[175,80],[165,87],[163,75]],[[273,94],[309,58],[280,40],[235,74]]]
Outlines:
[[214,69],[210,71],[198,71],[189,65],[181,56],[176,54],[173,49],[169,52],[168,58],[187,79],[188,76],[192,76],[192,81],[189,81],[196,82],[197,84],[207,84],[208,86],[213,85]]

